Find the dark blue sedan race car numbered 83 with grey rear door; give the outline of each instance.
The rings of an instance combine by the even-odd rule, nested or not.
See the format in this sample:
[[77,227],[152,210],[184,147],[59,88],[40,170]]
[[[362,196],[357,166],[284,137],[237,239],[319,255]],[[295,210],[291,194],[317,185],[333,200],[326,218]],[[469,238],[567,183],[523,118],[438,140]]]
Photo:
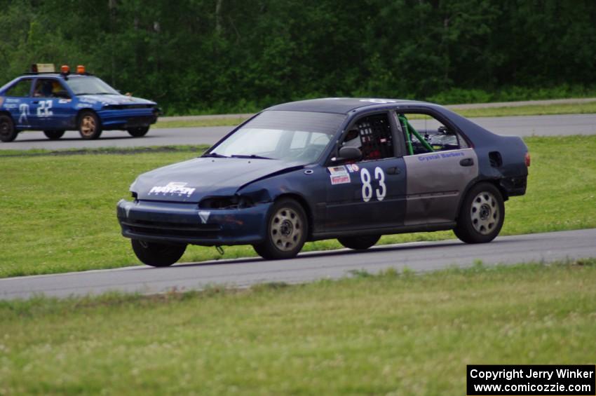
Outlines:
[[529,167],[519,137],[495,135],[438,104],[329,98],[265,109],[203,156],[137,177],[122,234],[144,264],[187,245],[252,245],[286,259],[306,241],[363,250],[381,235],[499,234]]

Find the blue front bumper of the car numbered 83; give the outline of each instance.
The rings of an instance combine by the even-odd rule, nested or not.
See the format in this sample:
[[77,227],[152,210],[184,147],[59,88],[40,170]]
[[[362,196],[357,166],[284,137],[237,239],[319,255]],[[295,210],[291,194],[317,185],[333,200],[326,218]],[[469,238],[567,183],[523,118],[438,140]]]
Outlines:
[[203,210],[196,203],[120,200],[116,213],[126,238],[203,246],[251,245],[264,240],[271,205]]

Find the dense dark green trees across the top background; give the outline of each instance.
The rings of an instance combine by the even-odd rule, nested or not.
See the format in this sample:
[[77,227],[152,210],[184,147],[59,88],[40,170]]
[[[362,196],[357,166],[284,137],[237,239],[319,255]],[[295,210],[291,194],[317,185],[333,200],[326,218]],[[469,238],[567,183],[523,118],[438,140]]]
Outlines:
[[85,64],[169,114],[596,84],[593,0],[0,0],[0,10],[0,84],[34,62]]

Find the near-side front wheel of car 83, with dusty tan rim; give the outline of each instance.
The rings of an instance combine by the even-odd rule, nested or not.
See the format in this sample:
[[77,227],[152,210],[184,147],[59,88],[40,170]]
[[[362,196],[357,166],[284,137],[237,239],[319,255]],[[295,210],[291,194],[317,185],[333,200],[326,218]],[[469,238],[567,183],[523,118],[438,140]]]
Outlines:
[[291,259],[302,250],[309,231],[302,205],[290,198],[278,200],[267,215],[266,239],[252,245],[266,260]]

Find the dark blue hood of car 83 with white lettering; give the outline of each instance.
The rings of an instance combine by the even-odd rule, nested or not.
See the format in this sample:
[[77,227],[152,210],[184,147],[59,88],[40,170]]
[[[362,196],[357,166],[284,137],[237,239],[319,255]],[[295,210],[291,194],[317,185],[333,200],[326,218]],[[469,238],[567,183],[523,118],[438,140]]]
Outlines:
[[137,177],[130,191],[140,200],[198,203],[207,196],[231,196],[257,179],[302,168],[297,163],[245,158],[195,158]]

